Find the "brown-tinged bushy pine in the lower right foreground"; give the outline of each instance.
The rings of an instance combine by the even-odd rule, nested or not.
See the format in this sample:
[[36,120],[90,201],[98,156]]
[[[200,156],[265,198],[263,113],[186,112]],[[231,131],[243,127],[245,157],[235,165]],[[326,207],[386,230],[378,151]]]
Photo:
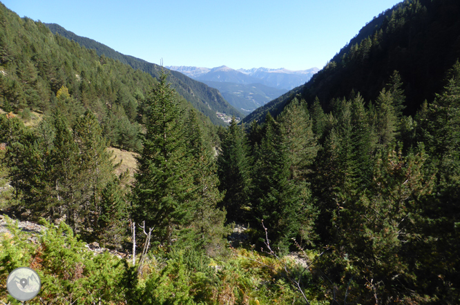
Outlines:
[[382,304],[408,295],[414,287],[407,252],[420,237],[416,203],[432,190],[432,181],[425,181],[423,174],[426,159],[423,148],[407,157],[395,144],[381,150],[370,188],[354,201],[341,203],[334,214],[340,232],[336,255],[347,253],[356,282],[372,279],[368,287]]

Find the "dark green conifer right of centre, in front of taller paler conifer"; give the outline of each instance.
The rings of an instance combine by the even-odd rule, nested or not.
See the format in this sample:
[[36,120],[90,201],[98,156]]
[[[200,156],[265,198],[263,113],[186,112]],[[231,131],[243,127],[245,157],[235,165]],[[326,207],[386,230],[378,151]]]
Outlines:
[[[305,117],[297,119],[300,121],[298,124],[302,124]],[[289,128],[287,121],[284,124]],[[253,168],[255,216],[257,222],[264,221],[273,244],[285,251],[292,238],[300,237],[305,243],[312,241],[312,222],[316,212],[307,184],[291,174],[291,168],[300,163],[289,156],[289,149],[296,145],[289,141],[288,132],[283,135],[280,125],[271,115],[265,119],[264,130]],[[294,161],[297,163],[294,164]]]

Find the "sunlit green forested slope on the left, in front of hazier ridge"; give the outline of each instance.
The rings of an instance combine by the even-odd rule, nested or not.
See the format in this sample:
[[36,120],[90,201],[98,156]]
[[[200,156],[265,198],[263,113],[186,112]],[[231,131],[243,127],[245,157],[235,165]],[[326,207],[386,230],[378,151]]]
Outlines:
[[[53,35],[43,23],[21,19],[3,4],[0,20],[0,108],[26,116],[30,110],[50,115],[59,108],[71,126],[90,109],[111,145],[140,148],[142,105],[156,83],[151,75]],[[206,130],[213,129],[209,119],[199,117]]]

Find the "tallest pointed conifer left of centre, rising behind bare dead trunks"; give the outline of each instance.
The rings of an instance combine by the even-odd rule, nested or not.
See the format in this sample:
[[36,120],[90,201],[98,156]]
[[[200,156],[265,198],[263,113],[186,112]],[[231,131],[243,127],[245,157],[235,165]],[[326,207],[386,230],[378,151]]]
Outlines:
[[186,152],[184,110],[162,74],[146,99],[150,108],[133,188],[136,222],[155,228],[154,236],[170,246],[175,230],[193,217],[191,159]]

